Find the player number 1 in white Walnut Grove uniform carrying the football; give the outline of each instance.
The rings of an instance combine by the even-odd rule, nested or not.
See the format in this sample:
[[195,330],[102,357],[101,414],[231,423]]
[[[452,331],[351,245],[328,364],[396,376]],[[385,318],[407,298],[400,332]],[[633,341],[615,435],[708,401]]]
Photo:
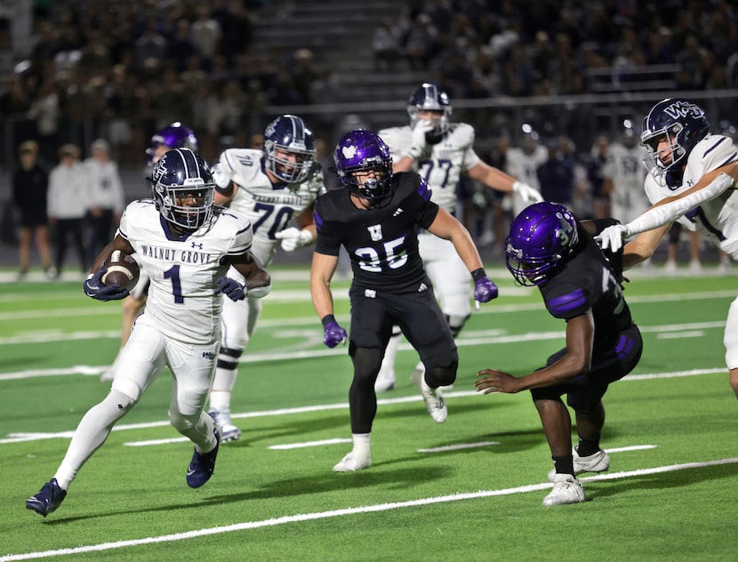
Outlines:
[[[264,296],[269,274],[249,252],[249,221],[213,207],[213,177],[197,153],[167,152],[149,181],[153,199],[126,207],[116,237],[84,281],[84,293],[93,299],[122,299],[128,291],[102,285],[100,265],[114,250],[138,254],[150,277],[148,303],[133,325],[108,396],[84,414],[54,477],[26,502],[44,517],[59,507],[77,472],[165,365],[172,371],[170,422],[195,445],[187,484],[203,486],[213,475],[220,435],[204,408],[221,345],[221,293],[232,300]],[[231,266],[245,283],[225,277]]]

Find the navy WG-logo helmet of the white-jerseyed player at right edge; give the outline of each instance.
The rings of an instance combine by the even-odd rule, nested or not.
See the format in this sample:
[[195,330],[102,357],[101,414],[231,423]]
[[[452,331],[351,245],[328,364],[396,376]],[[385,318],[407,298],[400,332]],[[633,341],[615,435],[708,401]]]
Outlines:
[[[663,172],[677,172],[686,165],[686,158],[694,146],[710,132],[705,112],[688,100],[667,99],[659,101],[643,118],[640,143],[648,149],[654,164]],[[664,135],[671,145],[671,162],[662,163],[656,151],[658,141]]]

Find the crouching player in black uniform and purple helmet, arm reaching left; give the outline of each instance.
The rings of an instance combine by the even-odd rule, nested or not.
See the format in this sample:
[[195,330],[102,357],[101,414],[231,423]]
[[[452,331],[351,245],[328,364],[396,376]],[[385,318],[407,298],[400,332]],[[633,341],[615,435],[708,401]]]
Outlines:
[[[611,254],[608,260],[592,239],[614,222],[580,224],[564,205],[544,201],[518,214],[505,240],[507,266],[517,283],[538,285],[549,314],[566,320],[566,347],[533,373],[515,377],[485,369],[474,384],[485,394],[531,391],[554,462],[549,472],[554,486],[543,498],[545,506],[584,502],[576,475],[609,468],[610,459],[599,447],[602,397],[611,382],[633,370],[643,349],[622,296],[620,256]],[[572,420],[561,399],[565,394],[576,415],[574,449]]]

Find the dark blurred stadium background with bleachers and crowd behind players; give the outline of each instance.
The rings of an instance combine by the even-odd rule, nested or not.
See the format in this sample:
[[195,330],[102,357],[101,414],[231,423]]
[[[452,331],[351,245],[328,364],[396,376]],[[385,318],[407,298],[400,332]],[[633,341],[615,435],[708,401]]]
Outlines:
[[[522,151],[536,162],[525,181],[595,216],[611,212],[602,189],[608,149],[638,137],[654,101],[689,97],[706,109],[713,132],[734,135],[738,6],[19,0],[0,3],[0,71],[0,197],[9,203],[28,141],[45,173],[70,150],[81,165],[104,146],[128,200],[147,195],[144,150],[173,121],[197,132],[213,161],[231,146],[259,146],[269,121],[295,113],[312,126],[327,167],[343,132],[405,124],[408,96],[435,81],[451,98],[453,120],[475,127],[485,161],[517,175],[520,158],[509,151]],[[499,251],[509,205],[473,183],[458,193],[477,242]],[[108,229],[122,205],[113,199],[105,201]],[[16,244],[13,205],[4,208],[2,239]],[[84,252],[102,236],[93,208],[76,211]]]

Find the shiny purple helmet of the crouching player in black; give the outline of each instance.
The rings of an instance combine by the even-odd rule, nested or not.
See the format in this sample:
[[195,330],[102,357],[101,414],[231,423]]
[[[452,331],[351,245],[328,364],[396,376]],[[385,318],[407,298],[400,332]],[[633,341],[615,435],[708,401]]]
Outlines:
[[519,285],[542,285],[578,242],[574,215],[564,205],[541,201],[510,224],[505,262]]

